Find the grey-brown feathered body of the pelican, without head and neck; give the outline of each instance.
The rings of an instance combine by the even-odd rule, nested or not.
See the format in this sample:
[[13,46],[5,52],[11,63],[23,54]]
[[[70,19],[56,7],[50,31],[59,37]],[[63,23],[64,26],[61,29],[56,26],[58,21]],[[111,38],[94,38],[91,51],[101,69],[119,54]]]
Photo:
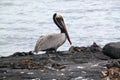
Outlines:
[[36,43],[34,51],[37,53],[38,51],[50,48],[57,49],[65,42],[65,40],[66,36],[64,33],[41,36]]

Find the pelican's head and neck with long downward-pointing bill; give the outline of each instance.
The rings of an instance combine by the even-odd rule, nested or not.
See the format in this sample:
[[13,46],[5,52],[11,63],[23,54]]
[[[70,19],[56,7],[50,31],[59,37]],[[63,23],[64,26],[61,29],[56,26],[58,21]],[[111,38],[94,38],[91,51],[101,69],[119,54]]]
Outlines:
[[66,24],[64,22],[63,16],[59,13],[54,13],[53,21],[60,28],[61,33],[65,33],[65,35],[66,35],[66,37],[71,45],[72,42],[71,42],[70,37],[68,35],[67,29],[66,29]]

